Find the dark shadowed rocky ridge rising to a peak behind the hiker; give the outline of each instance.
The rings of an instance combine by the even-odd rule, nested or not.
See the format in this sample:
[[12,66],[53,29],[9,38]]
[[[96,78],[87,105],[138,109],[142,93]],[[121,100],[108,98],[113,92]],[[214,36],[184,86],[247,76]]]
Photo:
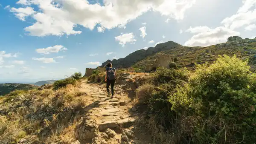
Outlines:
[[130,67],[133,64],[137,63],[140,60],[143,60],[145,58],[147,58],[148,56],[154,55],[157,52],[161,52],[161,51],[166,51],[169,49],[175,49],[178,47],[183,47],[178,43],[175,43],[173,41],[168,41],[166,43],[160,43],[157,44],[157,46],[155,47],[149,47],[148,49],[140,49],[137,50],[131,54],[129,54],[128,56],[126,56],[125,58],[119,58],[118,60],[113,59],[111,60],[107,60],[104,63],[102,63],[102,65],[100,67],[104,67],[106,65],[106,63],[111,62],[113,64],[113,66],[115,66],[116,68],[126,68],[126,67]]

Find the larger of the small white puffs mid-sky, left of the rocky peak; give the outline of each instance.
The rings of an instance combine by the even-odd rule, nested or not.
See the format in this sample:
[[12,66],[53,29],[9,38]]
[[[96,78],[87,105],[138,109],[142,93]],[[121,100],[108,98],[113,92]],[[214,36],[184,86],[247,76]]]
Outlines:
[[134,35],[133,33],[126,33],[126,34],[122,34],[115,37],[115,39],[117,41],[119,41],[119,44],[122,45],[123,47],[125,46],[126,43],[135,43],[135,41],[137,41],[136,39],[134,39]]

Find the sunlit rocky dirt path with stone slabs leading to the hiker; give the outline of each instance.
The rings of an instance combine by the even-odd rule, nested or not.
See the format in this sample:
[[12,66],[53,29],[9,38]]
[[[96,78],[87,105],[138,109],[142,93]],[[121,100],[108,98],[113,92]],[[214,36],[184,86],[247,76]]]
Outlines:
[[[84,118],[86,120],[81,122],[81,127],[86,125],[90,129],[81,128],[87,140],[93,138],[92,144],[143,144],[130,130],[135,118],[130,110],[132,102],[126,95],[107,97],[105,85],[90,84],[87,81],[82,81],[79,91],[87,92],[87,102],[92,105]],[[80,143],[90,144],[88,141]]]

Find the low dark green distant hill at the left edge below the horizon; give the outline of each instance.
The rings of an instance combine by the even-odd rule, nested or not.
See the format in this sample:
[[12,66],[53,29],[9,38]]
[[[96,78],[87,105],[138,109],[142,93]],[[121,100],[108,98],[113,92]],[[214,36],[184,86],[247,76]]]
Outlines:
[[0,84],[0,95],[6,95],[14,90],[30,90],[38,88],[32,84]]

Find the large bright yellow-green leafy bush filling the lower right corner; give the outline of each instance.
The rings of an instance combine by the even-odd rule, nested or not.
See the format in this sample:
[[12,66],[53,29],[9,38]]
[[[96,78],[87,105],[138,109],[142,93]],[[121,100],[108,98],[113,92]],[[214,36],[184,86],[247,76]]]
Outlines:
[[198,116],[191,123],[193,143],[254,143],[256,75],[247,62],[224,55],[209,67],[196,67],[189,83],[177,87],[169,100],[173,110]]

